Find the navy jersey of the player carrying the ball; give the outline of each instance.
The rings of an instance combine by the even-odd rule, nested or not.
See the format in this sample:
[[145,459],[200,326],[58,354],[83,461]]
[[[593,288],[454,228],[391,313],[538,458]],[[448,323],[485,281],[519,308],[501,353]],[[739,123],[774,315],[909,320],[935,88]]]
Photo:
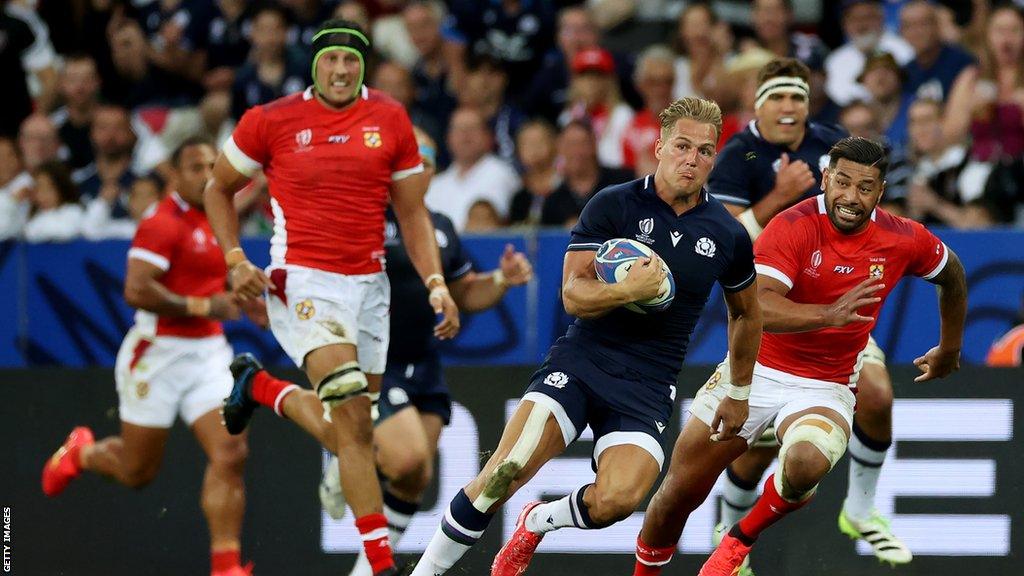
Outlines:
[[579,351],[601,363],[674,384],[715,283],[734,292],[754,282],[754,249],[743,227],[707,191],[699,204],[677,216],[654,192],[653,180],[645,176],[597,193],[572,229],[568,250],[596,251],[612,238],[643,242],[672,271],[672,305],[646,315],[620,307],[577,319],[555,345],[583,344]]

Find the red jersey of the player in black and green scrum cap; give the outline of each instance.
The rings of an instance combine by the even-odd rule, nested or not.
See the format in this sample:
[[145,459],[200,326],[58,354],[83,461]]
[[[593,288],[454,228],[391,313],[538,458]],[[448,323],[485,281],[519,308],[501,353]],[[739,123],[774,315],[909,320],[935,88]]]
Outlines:
[[391,182],[423,171],[406,109],[365,86],[341,111],[311,88],[251,108],[224,156],[243,174],[266,175],[273,264],[349,275],[383,270]]

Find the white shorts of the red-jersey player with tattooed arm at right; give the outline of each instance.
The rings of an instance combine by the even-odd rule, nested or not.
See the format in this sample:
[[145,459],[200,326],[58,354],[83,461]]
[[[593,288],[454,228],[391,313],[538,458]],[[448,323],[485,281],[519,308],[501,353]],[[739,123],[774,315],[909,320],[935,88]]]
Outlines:
[[[719,384],[731,381],[726,357],[693,397],[690,414],[710,426],[718,405],[725,399],[726,386]],[[750,412],[739,431],[749,445],[757,442],[769,425],[778,426],[790,416],[809,408],[835,410],[846,419],[847,425],[853,426],[857,401],[853,390],[844,384],[795,376],[755,363],[751,386]]]

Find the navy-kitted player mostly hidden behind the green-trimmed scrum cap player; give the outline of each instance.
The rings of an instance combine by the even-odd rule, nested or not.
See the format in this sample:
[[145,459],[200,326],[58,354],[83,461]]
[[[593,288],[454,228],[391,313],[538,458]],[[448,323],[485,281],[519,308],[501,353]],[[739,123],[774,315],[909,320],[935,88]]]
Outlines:
[[[413,130],[424,169],[432,175],[436,146],[419,128]],[[431,212],[430,217],[441,253],[444,281],[460,311],[473,313],[495,306],[510,287],[526,284],[532,278],[529,260],[512,245],[506,246],[498,269],[477,273],[452,220],[437,212]],[[437,442],[441,429],[452,418],[452,397],[441,371],[439,340],[434,335],[437,319],[427,298],[428,291],[406,252],[398,223],[390,209],[385,218],[384,249],[391,284],[391,339],[381,382],[379,415],[375,419],[374,447],[377,469],[386,479],[382,487],[384,516],[393,547],[397,546],[419,509],[423,493],[433,478]],[[335,519],[345,513],[338,470],[337,456],[334,456],[325,467],[321,487],[321,502]],[[360,549],[349,576],[372,574],[370,561]]]

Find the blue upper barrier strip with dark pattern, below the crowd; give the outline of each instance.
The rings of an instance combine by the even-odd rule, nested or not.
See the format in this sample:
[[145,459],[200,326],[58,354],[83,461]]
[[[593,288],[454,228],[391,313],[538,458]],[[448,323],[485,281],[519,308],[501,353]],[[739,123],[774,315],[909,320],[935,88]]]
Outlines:
[[[1024,292],[1024,232],[939,231],[964,261],[971,287],[964,360],[983,363],[991,342],[1006,332]],[[494,269],[506,243],[525,251],[537,281],[513,288],[494,310],[463,321],[463,331],[443,345],[449,365],[528,365],[540,362],[570,318],[559,300],[564,232],[467,237],[478,270]],[[267,242],[245,243],[259,265]],[[0,367],[111,366],[132,322],[122,298],[124,241],[68,244],[0,243]],[[679,246],[678,249],[689,249]],[[725,303],[718,289],[690,342],[687,361],[717,363],[726,346]],[[237,349],[256,353],[270,365],[288,359],[269,332],[248,322],[227,326]],[[890,295],[874,337],[892,362],[910,363],[937,341],[935,290],[903,282]]]

